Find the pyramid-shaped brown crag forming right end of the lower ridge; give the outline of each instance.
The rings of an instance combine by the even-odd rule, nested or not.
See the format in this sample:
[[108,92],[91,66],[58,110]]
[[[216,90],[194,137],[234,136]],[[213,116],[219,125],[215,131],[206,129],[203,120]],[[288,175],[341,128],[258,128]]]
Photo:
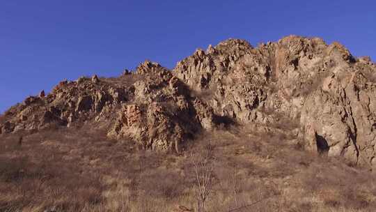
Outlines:
[[179,152],[187,139],[211,123],[212,111],[189,96],[189,89],[171,71],[146,61],[136,74],[143,80],[134,83],[133,104],[120,109],[110,137],[132,138],[146,149]]

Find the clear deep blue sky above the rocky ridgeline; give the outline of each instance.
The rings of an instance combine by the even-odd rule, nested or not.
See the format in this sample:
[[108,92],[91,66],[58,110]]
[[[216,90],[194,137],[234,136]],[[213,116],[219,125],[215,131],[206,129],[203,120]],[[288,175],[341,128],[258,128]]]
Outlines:
[[376,58],[375,1],[0,0],[0,112],[61,79],[168,68],[226,38],[338,40]]

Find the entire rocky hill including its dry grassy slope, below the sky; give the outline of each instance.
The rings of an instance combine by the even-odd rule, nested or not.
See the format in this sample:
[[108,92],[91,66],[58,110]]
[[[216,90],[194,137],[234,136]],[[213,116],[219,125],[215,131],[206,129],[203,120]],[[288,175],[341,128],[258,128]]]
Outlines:
[[0,116],[0,211],[375,211],[375,71],[288,36],[64,80]]

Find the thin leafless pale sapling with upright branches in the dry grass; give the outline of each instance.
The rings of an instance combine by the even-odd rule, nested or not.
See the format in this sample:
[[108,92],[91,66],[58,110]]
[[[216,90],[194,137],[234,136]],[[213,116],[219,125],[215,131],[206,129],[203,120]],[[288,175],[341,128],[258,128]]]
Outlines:
[[195,195],[197,200],[197,211],[205,211],[205,202],[212,192],[214,156],[212,147],[206,146],[198,154],[191,153],[191,163],[194,166],[196,178]]

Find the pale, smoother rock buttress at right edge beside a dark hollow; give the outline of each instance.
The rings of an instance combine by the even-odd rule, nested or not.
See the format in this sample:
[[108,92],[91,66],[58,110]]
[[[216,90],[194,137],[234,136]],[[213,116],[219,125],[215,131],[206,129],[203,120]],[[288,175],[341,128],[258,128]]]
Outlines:
[[330,155],[364,162],[375,156],[376,84],[364,75],[370,70],[359,66],[363,64],[332,73],[308,96],[301,114],[301,123],[305,123],[301,132],[312,137],[314,129],[326,139]]

